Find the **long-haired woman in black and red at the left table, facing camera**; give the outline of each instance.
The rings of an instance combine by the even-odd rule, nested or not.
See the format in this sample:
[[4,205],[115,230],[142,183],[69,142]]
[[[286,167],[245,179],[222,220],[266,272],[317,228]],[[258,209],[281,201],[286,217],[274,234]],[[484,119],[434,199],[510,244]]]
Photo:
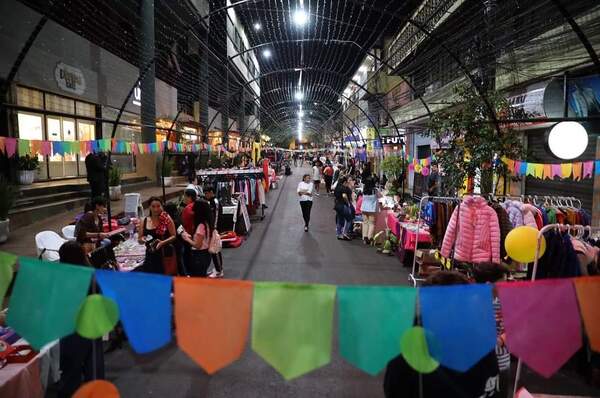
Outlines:
[[174,274],[177,271],[175,248],[172,245],[177,236],[175,223],[163,210],[160,198],[153,196],[149,202],[149,215],[138,225],[138,240],[146,244],[146,258],[136,271]]

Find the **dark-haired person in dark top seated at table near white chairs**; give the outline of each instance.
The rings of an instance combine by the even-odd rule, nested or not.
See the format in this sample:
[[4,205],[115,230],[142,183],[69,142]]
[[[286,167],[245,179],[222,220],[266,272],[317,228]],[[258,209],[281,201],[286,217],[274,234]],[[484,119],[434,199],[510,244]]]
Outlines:
[[[86,253],[94,250],[108,237],[102,231],[102,215],[105,213],[106,199],[97,196],[86,204],[85,214],[75,224],[75,240],[83,246]],[[110,244],[110,241],[106,244]]]

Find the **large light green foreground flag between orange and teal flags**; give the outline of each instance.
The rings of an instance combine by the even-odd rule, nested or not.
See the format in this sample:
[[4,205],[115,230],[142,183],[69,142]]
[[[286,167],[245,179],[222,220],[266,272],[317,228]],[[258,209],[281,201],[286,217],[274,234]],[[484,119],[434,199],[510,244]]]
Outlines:
[[335,286],[254,286],[252,349],[286,380],[331,360]]

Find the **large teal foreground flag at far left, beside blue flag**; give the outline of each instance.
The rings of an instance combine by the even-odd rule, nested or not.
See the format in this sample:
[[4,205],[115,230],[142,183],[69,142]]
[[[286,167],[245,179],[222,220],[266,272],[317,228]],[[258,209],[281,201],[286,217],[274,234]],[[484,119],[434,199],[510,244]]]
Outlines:
[[19,257],[7,323],[35,349],[75,332],[93,268]]

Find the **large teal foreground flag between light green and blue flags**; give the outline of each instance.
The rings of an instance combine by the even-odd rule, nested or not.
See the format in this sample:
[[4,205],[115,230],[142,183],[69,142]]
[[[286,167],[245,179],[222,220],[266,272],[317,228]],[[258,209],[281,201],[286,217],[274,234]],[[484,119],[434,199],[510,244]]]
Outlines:
[[400,338],[414,321],[416,296],[412,287],[340,286],[341,355],[371,375],[381,372],[400,354]]

